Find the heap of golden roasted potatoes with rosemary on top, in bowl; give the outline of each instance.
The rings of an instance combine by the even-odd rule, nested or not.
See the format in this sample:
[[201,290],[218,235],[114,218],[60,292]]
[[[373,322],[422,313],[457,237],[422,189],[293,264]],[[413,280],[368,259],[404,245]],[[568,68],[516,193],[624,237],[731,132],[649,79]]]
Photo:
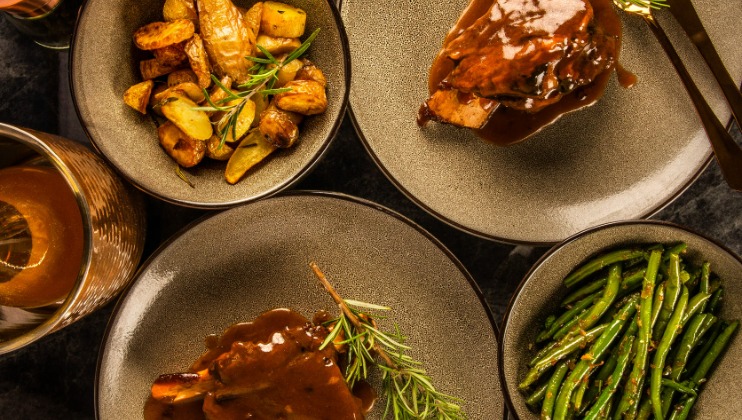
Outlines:
[[303,45],[303,10],[271,1],[241,9],[231,0],[165,0],[162,12],[164,22],[134,33],[134,44],[153,58],[139,63],[144,82],[124,102],[166,119],[158,138],[178,165],[226,160],[225,179],[234,184],[296,143],[303,114],[326,109],[322,71],[295,55],[285,62]]

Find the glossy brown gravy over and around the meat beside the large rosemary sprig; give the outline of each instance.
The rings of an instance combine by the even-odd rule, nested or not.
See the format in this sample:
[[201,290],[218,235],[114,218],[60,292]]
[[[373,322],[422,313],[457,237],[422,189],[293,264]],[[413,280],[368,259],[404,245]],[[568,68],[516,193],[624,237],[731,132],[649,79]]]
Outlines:
[[[238,377],[238,388],[255,387],[258,383],[260,389],[226,400],[214,398],[210,392],[204,400],[175,405],[150,396],[145,403],[144,419],[204,420],[208,417],[262,420],[286,418],[287,412],[290,413],[288,418],[363,419],[376,400],[373,388],[360,383],[350,394],[337,366],[335,350],[329,347],[318,350],[318,343],[324,335],[305,333],[307,329],[324,330],[316,325],[326,319],[326,313],[318,313],[310,324],[295,311],[274,309],[252,322],[229,327],[219,337],[207,337],[207,351],[193,363],[189,372],[213,369],[221,360],[227,368],[219,373]],[[235,357],[231,354],[235,354],[235,348],[243,343],[247,346],[257,344],[254,347],[260,348],[257,362],[253,359],[244,365],[232,362]],[[223,355],[228,352],[231,352],[229,361],[225,363],[227,359]]]

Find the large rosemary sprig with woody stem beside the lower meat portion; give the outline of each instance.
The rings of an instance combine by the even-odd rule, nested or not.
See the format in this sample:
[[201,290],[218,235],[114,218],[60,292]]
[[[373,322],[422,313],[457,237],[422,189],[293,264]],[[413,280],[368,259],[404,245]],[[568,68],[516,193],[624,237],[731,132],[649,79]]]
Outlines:
[[[406,352],[405,337],[381,331],[374,318],[363,310],[387,311],[390,308],[353,300],[338,295],[317,264],[309,264],[322,286],[340,308],[338,318],[328,322],[332,331],[320,348],[333,342],[347,346],[345,380],[350,387],[368,377],[369,368],[381,371],[383,394],[387,403],[384,418],[395,419],[465,419],[461,400],[439,392],[422,368]],[[336,341],[338,340],[338,341]]]

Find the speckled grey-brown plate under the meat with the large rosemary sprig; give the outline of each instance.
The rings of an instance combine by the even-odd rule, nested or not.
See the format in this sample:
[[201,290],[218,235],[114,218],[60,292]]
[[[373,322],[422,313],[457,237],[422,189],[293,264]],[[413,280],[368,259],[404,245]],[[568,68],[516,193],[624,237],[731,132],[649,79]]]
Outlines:
[[[503,417],[495,322],[455,257],[376,204],[292,193],[202,220],[144,264],[104,339],[98,418],[141,418],[152,381],[190,366],[208,334],[277,307],[334,313],[310,261],[343,297],[392,307],[382,327],[399,324],[411,354],[440,390],[466,401],[470,418]],[[383,404],[369,418],[381,418]]]

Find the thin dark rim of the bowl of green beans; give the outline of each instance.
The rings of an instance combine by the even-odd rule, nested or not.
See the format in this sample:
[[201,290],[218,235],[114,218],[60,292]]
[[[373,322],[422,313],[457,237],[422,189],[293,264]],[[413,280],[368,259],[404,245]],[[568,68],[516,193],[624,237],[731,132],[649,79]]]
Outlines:
[[533,275],[533,273],[541,267],[544,262],[551,258],[554,253],[556,253],[559,249],[561,249],[563,246],[566,246],[568,244],[571,244],[575,241],[578,241],[585,236],[589,236],[596,231],[603,230],[603,229],[610,229],[613,227],[622,227],[622,226],[628,226],[628,225],[654,225],[654,226],[662,226],[662,227],[669,227],[673,229],[679,229],[682,231],[685,231],[687,233],[690,233],[692,235],[695,235],[712,245],[715,245],[719,247],[722,251],[726,252],[729,256],[731,256],[734,260],[737,261],[737,263],[742,266],[742,256],[737,255],[734,251],[732,251],[729,247],[721,243],[720,241],[711,238],[707,235],[704,235],[702,233],[699,233],[695,229],[689,228],[687,226],[683,226],[677,223],[665,221],[665,220],[652,220],[652,219],[627,219],[627,220],[618,220],[615,222],[608,222],[603,223],[600,225],[596,225],[593,227],[590,227],[588,229],[582,230],[580,232],[575,233],[574,235],[571,235],[569,238],[565,239],[562,242],[559,242],[558,244],[554,245],[553,247],[549,248],[526,272],[525,275],[523,275],[523,278],[521,279],[520,283],[518,283],[518,286],[515,288],[515,291],[513,291],[513,294],[510,296],[510,300],[508,301],[508,306],[505,309],[505,314],[503,315],[501,326],[500,326],[500,340],[498,341],[498,351],[497,351],[497,370],[498,375],[500,376],[500,389],[502,389],[503,399],[505,400],[505,406],[507,407],[507,410],[512,413],[512,415],[515,418],[519,418],[518,413],[515,410],[515,404],[513,403],[512,396],[510,395],[510,392],[507,388],[507,380],[505,377],[505,373],[503,369],[505,368],[505,357],[503,356],[503,351],[505,349],[505,334],[507,331],[508,321],[510,320],[510,315],[513,312],[513,306],[515,304],[515,301],[520,296],[521,292],[523,291],[523,287],[525,287],[525,284],[527,280]]

